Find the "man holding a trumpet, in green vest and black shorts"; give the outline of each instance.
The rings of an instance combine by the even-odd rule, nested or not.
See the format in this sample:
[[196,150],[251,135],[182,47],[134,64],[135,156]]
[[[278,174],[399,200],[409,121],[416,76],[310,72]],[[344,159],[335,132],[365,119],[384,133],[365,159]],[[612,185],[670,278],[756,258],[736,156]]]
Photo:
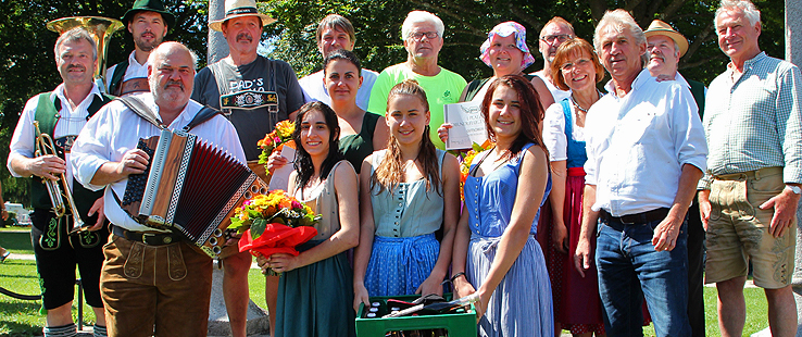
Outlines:
[[[42,309],[47,311],[45,336],[77,334],[72,317],[76,265],[86,302],[95,311],[95,336],[105,336],[105,315],[98,285],[103,264],[102,247],[109,237],[103,226],[103,194],[92,192],[74,182],[65,159],[70,157],[75,137],[109,98],[101,95],[92,80],[98,52],[86,29],[74,28],[62,34],[54,52],[63,83],[25,104],[11,138],[7,165],[13,176],[32,178],[30,235],[42,288]],[[37,137],[39,133],[52,137],[54,149],[50,149],[50,142],[37,139],[47,138]],[[53,194],[63,194],[65,204],[54,202]],[[79,216],[71,209],[77,209]],[[79,229],[75,224],[80,224],[82,220],[85,226],[73,230]],[[77,235],[71,234],[74,232]]]

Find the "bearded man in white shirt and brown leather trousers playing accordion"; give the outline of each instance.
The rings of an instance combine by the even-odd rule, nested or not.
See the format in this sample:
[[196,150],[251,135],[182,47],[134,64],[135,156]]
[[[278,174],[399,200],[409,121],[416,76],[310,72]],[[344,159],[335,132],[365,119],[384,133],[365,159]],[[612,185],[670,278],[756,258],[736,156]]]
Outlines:
[[[197,57],[178,42],[164,42],[149,57],[149,92],[128,96],[155,114],[168,129],[184,129],[245,162],[237,132],[220,114],[205,114],[189,99]],[[137,149],[140,138],[161,128],[115,100],[91,118],[73,149],[71,164],[87,188],[104,189],[111,240],[100,290],[109,336],[205,336],[212,289],[212,259],[175,233],[136,222],[118,200],[128,177],[151,160]]]

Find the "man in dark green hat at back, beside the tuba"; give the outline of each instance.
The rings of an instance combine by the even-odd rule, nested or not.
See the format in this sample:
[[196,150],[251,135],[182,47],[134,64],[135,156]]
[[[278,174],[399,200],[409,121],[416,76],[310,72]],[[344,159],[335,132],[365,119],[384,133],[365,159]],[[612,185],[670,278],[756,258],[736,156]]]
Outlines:
[[167,30],[175,24],[175,16],[162,0],[137,0],[122,18],[134,37],[134,51],[128,60],[112,65],[106,72],[108,92],[123,96],[148,91],[148,55],[162,43]]

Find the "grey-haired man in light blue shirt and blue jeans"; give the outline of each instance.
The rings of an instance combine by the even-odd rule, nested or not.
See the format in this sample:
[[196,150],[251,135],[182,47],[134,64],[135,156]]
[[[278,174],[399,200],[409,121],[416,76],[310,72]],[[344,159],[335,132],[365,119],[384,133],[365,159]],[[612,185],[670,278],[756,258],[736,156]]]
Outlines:
[[707,154],[697,104],[687,87],[643,68],[647,39],[626,11],[606,12],[593,42],[613,79],[586,121],[575,265],[590,266],[596,238],[609,336],[642,336],[644,298],[657,336],[690,336],[685,223]]

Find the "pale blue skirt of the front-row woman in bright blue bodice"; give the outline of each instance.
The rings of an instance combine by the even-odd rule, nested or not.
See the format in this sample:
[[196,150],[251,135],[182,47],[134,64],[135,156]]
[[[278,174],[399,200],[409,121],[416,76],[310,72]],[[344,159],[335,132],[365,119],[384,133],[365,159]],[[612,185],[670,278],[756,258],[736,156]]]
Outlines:
[[[471,237],[465,276],[474,288],[487,278],[500,239]],[[483,337],[554,335],[549,273],[532,236],[490,297],[478,327]]]

